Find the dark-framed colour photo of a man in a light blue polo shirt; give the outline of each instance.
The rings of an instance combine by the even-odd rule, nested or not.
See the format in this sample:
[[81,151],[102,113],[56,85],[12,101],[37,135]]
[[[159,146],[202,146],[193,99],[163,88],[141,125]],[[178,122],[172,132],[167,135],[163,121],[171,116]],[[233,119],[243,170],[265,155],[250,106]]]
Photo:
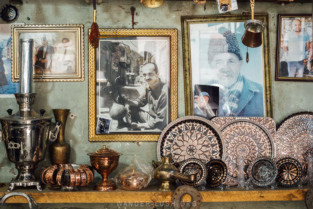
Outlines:
[[279,14],[276,81],[313,81],[311,14]]

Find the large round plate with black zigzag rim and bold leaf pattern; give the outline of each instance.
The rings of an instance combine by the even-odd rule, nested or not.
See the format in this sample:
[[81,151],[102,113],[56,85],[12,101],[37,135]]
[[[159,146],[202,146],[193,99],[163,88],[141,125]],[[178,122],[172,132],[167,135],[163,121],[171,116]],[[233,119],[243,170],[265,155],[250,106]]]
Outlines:
[[158,144],[157,156],[172,154],[173,162],[182,162],[189,158],[201,159],[207,163],[211,158],[222,157],[223,145],[221,134],[207,119],[198,116],[178,118],[162,131]]

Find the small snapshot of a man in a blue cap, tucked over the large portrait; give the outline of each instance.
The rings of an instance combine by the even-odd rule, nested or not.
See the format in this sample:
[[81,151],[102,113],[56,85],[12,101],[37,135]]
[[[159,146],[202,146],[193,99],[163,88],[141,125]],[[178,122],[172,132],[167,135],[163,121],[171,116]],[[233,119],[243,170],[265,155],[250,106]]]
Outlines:
[[193,115],[211,119],[218,116],[219,87],[195,85]]

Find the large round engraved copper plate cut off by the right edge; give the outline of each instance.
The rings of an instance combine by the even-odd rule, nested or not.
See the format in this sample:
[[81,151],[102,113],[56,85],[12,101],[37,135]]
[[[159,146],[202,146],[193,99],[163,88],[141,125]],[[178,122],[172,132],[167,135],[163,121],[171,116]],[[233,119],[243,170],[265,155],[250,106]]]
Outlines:
[[298,112],[282,120],[276,130],[277,159],[291,157],[303,165],[307,173],[306,158],[313,149],[313,112]]

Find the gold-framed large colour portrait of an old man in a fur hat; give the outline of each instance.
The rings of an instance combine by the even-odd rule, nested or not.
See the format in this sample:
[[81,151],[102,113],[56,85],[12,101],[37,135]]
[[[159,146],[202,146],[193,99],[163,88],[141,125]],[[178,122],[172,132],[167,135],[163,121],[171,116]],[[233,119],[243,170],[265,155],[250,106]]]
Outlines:
[[[218,116],[273,116],[268,14],[254,15],[266,25],[256,48],[241,43],[249,19],[251,15],[181,17],[186,115],[193,115],[198,101],[194,85],[212,85],[219,87]],[[228,100],[229,95],[236,99]]]

